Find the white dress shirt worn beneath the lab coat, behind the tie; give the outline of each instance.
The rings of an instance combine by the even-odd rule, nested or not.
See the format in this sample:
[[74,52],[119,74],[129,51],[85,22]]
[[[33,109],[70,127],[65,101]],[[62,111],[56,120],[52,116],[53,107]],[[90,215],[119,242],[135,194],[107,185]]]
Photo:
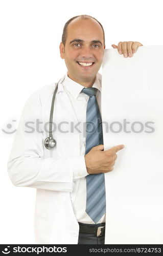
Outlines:
[[[101,113],[101,74],[100,73],[97,73],[96,80],[92,87],[98,89],[96,97],[99,104],[99,110]],[[63,81],[63,88],[67,93],[69,99],[71,100],[77,120],[81,122],[78,125],[78,129],[80,130],[80,154],[85,155],[85,140],[86,140],[85,137],[86,136],[84,131],[85,131],[85,122],[86,122],[86,108],[87,108],[87,102],[88,102],[89,96],[81,92],[82,89],[85,87],[75,82],[74,80],[70,79],[67,76],[67,73]],[[76,171],[78,174],[77,177],[79,178],[78,170]],[[72,201],[74,214],[78,222],[95,224],[95,222],[92,221],[91,218],[85,212],[85,209],[86,209],[86,178],[85,176],[87,176],[88,173],[86,172],[86,168],[82,170],[82,167],[80,168],[80,172],[82,172],[81,173],[82,178],[80,178],[78,189],[77,191],[73,190],[73,193],[71,193],[73,194],[73,198],[75,198],[75,201]],[[76,174],[74,173],[74,178],[75,176]],[[105,215],[106,214],[102,216],[102,218],[98,221],[98,223],[105,222]]]

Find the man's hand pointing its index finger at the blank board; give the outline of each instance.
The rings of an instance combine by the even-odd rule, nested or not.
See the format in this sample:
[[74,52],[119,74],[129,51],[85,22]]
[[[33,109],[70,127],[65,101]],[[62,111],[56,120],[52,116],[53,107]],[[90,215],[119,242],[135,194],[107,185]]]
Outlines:
[[118,145],[103,151],[104,145],[94,146],[85,155],[85,164],[88,174],[108,173],[113,170],[117,152],[122,150],[124,145]]

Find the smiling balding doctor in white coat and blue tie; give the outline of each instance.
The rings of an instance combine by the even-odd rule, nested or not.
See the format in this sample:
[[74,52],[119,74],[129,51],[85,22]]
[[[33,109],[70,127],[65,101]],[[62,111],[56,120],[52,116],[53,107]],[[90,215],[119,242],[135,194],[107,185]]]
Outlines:
[[[124,57],[132,57],[139,42],[119,42]],[[16,186],[37,188],[35,237],[39,244],[104,244],[104,173],[113,170],[117,152],[124,145],[103,151],[101,123],[101,75],[105,36],[93,17],[80,15],[65,24],[60,55],[67,73],[58,84],[54,123],[58,126],[78,122],[94,124],[73,133],[56,131],[53,150],[44,147],[56,84],[35,91],[22,112],[10,158],[8,172]],[[39,119],[41,131],[25,131],[25,123]],[[97,124],[96,121],[100,120]],[[89,126],[89,125],[88,125]],[[60,127],[60,126],[59,126]],[[80,128],[82,125],[80,125]],[[64,126],[65,128],[65,126]],[[91,130],[91,129],[90,129]]]

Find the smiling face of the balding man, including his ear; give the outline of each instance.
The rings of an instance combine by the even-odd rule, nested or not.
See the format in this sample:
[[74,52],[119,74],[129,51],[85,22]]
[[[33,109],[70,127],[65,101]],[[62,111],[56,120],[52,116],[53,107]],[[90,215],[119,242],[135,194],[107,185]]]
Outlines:
[[[101,67],[104,49],[103,30],[98,22],[74,19],[67,27],[65,47],[62,42],[60,44],[60,55],[65,60],[68,77],[91,86]],[[85,66],[85,63],[91,65]]]

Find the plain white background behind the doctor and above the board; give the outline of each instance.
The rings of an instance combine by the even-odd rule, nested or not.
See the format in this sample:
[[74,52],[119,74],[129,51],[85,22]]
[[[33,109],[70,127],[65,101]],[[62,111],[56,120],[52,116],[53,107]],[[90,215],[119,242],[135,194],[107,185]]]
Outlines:
[[[0,1],[1,244],[34,243],[35,189],[15,187],[9,180],[7,160],[14,133],[6,134],[2,129],[14,131],[28,97],[65,74],[64,60],[59,54],[64,24],[80,14],[96,17],[105,30],[106,49],[129,40],[145,46],[162,45],[161,2]],[[11,129],[7,128],[9,123]]]

